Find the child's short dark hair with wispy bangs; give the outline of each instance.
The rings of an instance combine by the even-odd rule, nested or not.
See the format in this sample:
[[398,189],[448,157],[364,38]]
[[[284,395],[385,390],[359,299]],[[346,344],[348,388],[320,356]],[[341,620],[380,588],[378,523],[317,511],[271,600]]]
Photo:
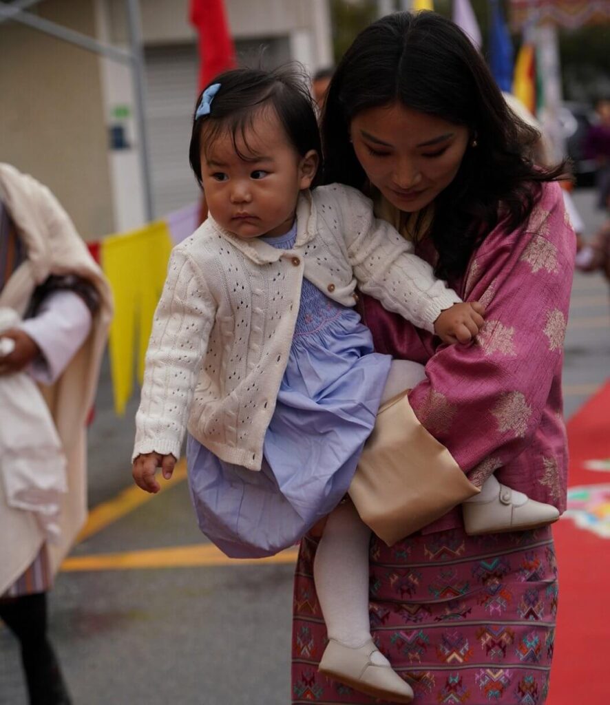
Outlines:
[[[252,158],[240,153],[237,137],[240,136],[248,148],[248,129],[264,109],[275,111],[289,142],[301,157],[315,149],[322,160],[319,128],[307,78],[294,66],[283,66],[274,71],[236,68],[216,76],[210,85],[214,83],[219,83],[220,88],[212,99],[208,115],[197,118],[197,107],[204,92],[197,99],[190,135],[188,159],[199,185],[202,185],[201,153],[205,153],[205,144],[218,135],[231,135],[240,157]],[[317,185],[321,175],[322,168],[318,168],[311,188]]]

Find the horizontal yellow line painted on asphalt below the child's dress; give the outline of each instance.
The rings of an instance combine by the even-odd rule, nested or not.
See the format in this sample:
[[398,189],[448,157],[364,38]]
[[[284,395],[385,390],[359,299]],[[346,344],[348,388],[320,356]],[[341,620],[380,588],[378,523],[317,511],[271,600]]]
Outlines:
[[200,568],[216,565],[245,565],[250,563],[295,563],[296,548],[288,548],[269,558],[227,558],[216,546],[172,546],[148,548],[145,551],[99,553],[97,556],[71,556],[61,564],[65,572],[86,570],[141,570],[142,568]]

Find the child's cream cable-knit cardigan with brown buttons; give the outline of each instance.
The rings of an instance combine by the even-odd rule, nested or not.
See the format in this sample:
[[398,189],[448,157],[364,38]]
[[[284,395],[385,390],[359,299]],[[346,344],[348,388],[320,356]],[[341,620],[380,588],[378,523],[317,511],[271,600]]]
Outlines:
[[343,305],[356,285],[434,330],[460,301],[372,202],[343,185],[300,195],[291,250],[240,240],[211,217],[174,248],[154,315],[133,458],[178,458],[185,427],[226,462],[260,470],[305,276]]

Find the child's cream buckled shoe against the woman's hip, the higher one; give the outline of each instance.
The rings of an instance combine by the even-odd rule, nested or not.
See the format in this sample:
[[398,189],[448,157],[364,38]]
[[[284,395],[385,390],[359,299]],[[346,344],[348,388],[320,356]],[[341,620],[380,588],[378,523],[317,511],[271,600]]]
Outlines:
[[462,512],[470,536],[537,529],[559,519],[559,510],[550,504],[530,498],[520,506],[513,504],[513,491],[503,484],[487,502],[464,502]]

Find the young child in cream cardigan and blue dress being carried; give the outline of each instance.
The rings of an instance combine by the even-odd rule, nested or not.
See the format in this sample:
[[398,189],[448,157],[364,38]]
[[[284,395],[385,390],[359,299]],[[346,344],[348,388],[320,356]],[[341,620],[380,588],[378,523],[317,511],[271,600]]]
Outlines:
[[374,353],[354,290],[445,343],[470,341],[484,309],[437,281],[360,192],[314,189],[320,154],[310,96],[286,71],[229,71],[203,92],[190,163],[209,218],[173,250],[133,476],[159,491],[155,470],[171,477],[188,424],[195,511],[228,556],[276,553],[329,515],[315,560],[329,635],[320,669],[410,702],[370,635],[370,529],[341,500],[380,403],[422,368]]

